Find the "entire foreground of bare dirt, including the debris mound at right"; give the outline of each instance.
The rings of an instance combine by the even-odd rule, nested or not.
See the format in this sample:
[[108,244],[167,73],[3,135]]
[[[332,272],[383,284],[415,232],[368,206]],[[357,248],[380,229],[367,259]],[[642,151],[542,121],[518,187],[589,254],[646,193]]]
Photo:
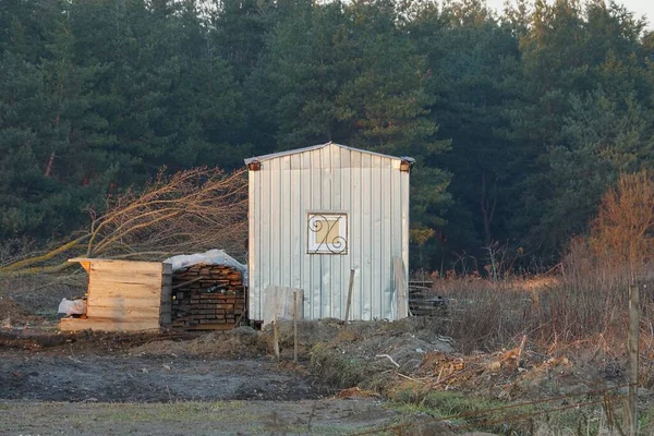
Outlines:
[[[574,407],[607,388],[619,404],[626,383],[621,359],[600,349],[463,355],[438,317],[301,322],[295,364],[291,323],[277,363],[269,329],[62,334],[11,301],[0,310],[12,319],[0,326],[1,435],[344,435],[536,399]],[[642,389],[645,415],[653,397]]]

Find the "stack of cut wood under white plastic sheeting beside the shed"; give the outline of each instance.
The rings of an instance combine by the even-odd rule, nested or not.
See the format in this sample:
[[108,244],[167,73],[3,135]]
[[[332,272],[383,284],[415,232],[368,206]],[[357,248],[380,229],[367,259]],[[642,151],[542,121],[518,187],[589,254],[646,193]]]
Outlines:
[[243,275],[237,268],[197,264],[172,274],[172,327],[229,329],[244,310]]

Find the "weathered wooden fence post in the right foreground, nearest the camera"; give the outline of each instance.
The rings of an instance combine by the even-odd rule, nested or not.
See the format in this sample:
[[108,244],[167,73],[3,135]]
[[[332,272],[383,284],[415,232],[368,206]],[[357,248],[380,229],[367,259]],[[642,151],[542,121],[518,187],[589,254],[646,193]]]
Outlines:
[[640,331],[640,294],[629,286],[629,436],[638,433],[638,353]]

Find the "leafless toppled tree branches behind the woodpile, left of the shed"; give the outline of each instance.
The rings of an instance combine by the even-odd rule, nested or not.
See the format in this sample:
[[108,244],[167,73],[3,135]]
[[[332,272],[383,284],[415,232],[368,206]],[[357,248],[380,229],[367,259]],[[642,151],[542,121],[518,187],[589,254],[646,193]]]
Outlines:
[[57,272],[74,256],[159,261],[177,254],[226,250],[243,256],[247,234],[247,180],[195,168],[143,190],[107,198],[105,213],[90,209],[87,229],[46,253],[0,266],[0,277]]

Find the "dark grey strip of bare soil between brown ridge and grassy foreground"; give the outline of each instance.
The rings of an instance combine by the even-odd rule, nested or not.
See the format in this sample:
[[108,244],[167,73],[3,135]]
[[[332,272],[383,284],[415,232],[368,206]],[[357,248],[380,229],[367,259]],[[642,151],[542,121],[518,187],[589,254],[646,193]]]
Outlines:
[[174,402],[319,399],[332,389],[268,360],[2,355],[0,399]]

